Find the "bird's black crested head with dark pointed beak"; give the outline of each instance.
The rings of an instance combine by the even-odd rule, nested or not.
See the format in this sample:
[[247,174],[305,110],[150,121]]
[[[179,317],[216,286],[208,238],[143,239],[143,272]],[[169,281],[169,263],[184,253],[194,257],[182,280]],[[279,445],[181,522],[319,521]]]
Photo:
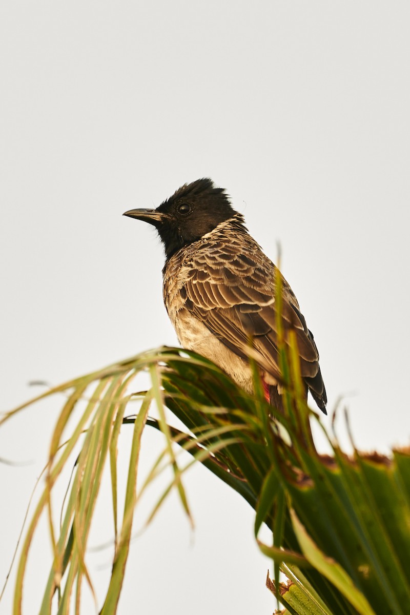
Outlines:
[[179,248],[197,241],[235,215],[223,188],[202,178],[184,184],[156,209],[132,209],[124,216],[153,224],[170,258]]

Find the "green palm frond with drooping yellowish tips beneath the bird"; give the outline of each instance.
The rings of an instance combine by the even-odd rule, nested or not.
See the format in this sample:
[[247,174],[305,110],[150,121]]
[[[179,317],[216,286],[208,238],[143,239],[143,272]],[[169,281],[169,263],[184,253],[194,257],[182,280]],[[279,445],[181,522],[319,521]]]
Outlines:
[[[273,562],[268,587],[295,615],[405,615],[410,605],[410,455],[387,457],[355,450],[352,458],[329,438],[333,456],[318,454],[310,421],[321,421],[302,394],[294,340],[283,354],[286,410],[270,407],[255,372],[255,394],[240,389],[213,363],[192,352],[162,347],[115,363],[50,389],[67,398],[50,443],[44,485],[26,530],[17,568],[14,614],[22,613],[27,559],[39,519],[47,515],[53,544],[41,613],[79,610],[82,587],[92,590],[86,557],[90,525],[104,471],[111,477],[115,548],[112,573],[101,613],[115,613],[124,581],[135,506],[141,493],[167,467],[172,478],[152,510],[176,488],[190,517],[183,475],[201,462],[255,510],[259,548]],[[136,376],[148,372],[152,386],[134,394]],[[39,399],[39,398],[36,398]],[[84,402],[86,400],[86,403]],[[138,410],[127,416],[130,402]],[[158,418],[149,418],[155,404]],[[27,402],[8,413],[1,423]],[[168,408],[186,431],[167,422]],[[73,413],[79,413],[76,421]],[[133,427],[122,515],[117,494],[117,443],[120,429]],[[148,427],[165,436],[165,448],[136,490],[141,434]],[[191,455],[181,464],[178,448]],[[54,521],[52,494],[69,464],[73,482],[60,526]],[[262,524],[272,544],[259,540]],[[279,570],[288,576],[280,583]],[[276,589],[277,588],[277,589]]]

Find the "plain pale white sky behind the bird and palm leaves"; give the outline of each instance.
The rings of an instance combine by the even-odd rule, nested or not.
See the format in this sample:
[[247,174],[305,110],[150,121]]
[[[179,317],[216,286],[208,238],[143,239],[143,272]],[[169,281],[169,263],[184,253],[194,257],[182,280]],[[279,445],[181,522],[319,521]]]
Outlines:
[[[121,214],[205,176],[272,260],[280,242],[329,410],[345,396],[361,448],[408,443],[409,22],[405,1],[2,2],[3,409],[30,380],[176,344],[159,241]],[[0,466],[0,581],[60,405],[0,432],[30,462]],[[203,469],[187,490],[195,533],[174,498],[133,542],[119,612],[271,613],[249,507]]]

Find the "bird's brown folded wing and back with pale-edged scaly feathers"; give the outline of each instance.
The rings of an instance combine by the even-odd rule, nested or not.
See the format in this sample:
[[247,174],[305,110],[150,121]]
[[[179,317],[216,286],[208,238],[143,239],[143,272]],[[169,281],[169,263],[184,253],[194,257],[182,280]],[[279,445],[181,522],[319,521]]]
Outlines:
[[[242,245],[213,248],[197,252],[190,263],[183,288],[185,307],[243,358],[250,354],[251,340],[257,362],[274,378],[280,377],[275,304],[278,269],[259,247],[250,252],[243,252]],[[298,301],[283,278],[282,287],[285,339],[287,331],[295,331],[302,377],[323,410],[326,392],[317,347]]]

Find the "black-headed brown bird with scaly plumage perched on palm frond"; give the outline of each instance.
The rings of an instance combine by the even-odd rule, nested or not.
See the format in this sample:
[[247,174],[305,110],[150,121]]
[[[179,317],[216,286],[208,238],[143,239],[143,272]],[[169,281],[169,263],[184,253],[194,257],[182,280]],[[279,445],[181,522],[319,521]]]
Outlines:
[[275,298],[280,276],[285,343],[293,330],[305,397],[310,391],[327,414],[319,353],[298,300],[224,188],[201,178],[178,188],[156,209],[123,215],[152,224],[164,245],[164,303],[181,346],[216,363],[249,393],[252,357],[267,401],[283,412]]

